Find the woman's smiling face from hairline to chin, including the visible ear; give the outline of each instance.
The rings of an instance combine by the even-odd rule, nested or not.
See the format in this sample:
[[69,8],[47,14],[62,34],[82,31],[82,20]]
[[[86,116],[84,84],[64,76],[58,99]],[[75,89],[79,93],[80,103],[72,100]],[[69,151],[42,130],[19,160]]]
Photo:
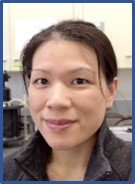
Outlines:
[[102,72],[99,82],[95,52],[73,41],[49,41],[35,52],[32,70],[29,108],[47,143],[67,150],[92,142],[114,96]]

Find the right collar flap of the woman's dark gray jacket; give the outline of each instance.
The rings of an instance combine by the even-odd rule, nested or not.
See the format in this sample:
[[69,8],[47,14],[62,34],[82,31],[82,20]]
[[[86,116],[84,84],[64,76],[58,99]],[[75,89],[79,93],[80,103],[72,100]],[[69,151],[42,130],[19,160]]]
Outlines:
[[107,123],[103,123],[97,132],[97,142],[91,154],[84,180],[97,180],[112,171],[109,160],[104,154],[104,142],[109,131]]

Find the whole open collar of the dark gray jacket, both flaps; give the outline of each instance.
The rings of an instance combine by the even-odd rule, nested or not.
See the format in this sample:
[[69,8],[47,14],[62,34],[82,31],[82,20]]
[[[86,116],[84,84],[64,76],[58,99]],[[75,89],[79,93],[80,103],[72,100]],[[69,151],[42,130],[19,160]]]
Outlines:
[[[106,172],[111,172],[111,166],[104,155],[103,144],[108,131],[108,125],[103,123],[97,133],[97,142],[92,152],[84,180],[96,180]],[[48,180],[45,175],[45,165],[47,165],[51,148],[45,142],[40,132],[36,135],[25,148],[15,157],[20,167],[35,180]],[[47,160],[46,160],[47,158]]]

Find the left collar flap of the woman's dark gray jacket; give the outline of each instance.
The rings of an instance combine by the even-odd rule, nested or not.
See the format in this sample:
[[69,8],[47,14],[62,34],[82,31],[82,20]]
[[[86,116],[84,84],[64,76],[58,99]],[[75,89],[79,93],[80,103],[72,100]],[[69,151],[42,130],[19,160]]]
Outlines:
[[16,155],[15,160],[30,178],[47,180],[45,165],[49,161],[50,152],[51,148],[37,131],[25,148]]

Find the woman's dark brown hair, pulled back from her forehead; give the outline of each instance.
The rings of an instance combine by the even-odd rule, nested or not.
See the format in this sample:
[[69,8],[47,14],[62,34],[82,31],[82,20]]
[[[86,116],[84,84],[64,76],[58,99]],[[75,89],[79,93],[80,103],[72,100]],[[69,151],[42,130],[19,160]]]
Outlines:
[[117,76],[116,57],[107,36],[92,23],[67,20],[34,35],[22,50],[22,75],[26,89],[26,81],[30,78],[35,51],[41,44],[56,39],[76,41],[92,48],[97,55],[99,77],[102,70],[107,84],[110,84]]

